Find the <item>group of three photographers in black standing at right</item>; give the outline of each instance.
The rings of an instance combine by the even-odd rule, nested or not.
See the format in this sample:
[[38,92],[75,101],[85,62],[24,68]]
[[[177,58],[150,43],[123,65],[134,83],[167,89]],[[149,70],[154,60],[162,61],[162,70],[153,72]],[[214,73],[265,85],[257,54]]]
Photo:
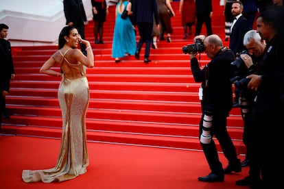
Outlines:
[[[226,118],[232,108],[232,83],[239,91],[244,119],[244,144],[250,157],[249,173],[237,185],[250,188],[281,186],[284,167],[279,136],[284,115],[284,38],[283,8],[272,7],[257,16],[257,30],[244,36],[243,51],[235,58],[217,35],[196,36],[195,43],[182,47],[191,60],[191,71],[199,91],[202,117],[200,144],[211,173],[200,181],[224,181],[224,175],[240,172],[241,164],[226,130]],[[205,52],[211,61],[200,68],[196,55]],[[228,66],[228,64],[230,66]],[[230,74],[228,74],[230,73]],[[213,136],[220,142],[228,166],[222,169]]]

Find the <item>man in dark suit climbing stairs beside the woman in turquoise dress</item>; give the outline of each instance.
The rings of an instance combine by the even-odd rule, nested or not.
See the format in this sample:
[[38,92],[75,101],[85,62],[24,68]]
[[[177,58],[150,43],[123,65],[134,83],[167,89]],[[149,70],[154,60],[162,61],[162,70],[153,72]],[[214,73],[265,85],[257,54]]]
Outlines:
[[151,62],[151,60],[149,60],[149,55],[152,43],[152,29],[154,19],[157,25],[157,29],[158,27],[160,27],[158,20],[157,2],[156,0],[133,0],[132,12],[132,23],[133,25],[137,25],[140,35],[140,40],[135,52],[135,58],[139,59],[141,47],[145,42],[144,62]]

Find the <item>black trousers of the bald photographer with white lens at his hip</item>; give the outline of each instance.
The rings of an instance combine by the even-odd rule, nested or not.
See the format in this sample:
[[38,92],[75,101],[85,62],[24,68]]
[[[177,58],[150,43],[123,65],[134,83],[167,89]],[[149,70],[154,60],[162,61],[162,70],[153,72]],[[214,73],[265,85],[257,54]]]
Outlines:
[[[199,136],[202,134],[202,123],[203,123],[204,113],[202,114],[202,119],[200,121],[199,127]],[[237,164],[239,162],[237,158],[237,152],[235,150],[235,146],[228,135],[228,131],[226,128],[227,125],[227,115],[224,113],[215,113],[213,112],[213,121],[211,127],[211,136],[215,136],[220,143],[222,151],[229,164]],[[200,142],[202,149],[204,151],[204,155],[209,164],[211,172],[216,175],[223,175],[223,167],[222,163],[219,160],[219,156],[217,153],[217,147],[215,145],[214,140],[211,140],[209,144],[203,144]]]

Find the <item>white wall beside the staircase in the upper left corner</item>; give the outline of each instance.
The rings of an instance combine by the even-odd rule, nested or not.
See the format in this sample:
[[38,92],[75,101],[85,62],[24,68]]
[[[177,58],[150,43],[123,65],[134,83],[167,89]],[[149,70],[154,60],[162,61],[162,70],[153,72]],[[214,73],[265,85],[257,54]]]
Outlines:
[[[91,1],[82,1],[91,20]],[[55,45],[66,23],[62,0],[0,0],[0,23],[12,46]]]

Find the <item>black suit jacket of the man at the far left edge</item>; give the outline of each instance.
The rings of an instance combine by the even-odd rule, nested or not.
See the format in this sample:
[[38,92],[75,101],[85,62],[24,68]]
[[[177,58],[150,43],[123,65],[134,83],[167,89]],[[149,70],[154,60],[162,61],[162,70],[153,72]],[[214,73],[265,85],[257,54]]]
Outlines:
[[11,45],[8,40],[0,39],[0,90],[9,92],[11,74],[14,73]]

